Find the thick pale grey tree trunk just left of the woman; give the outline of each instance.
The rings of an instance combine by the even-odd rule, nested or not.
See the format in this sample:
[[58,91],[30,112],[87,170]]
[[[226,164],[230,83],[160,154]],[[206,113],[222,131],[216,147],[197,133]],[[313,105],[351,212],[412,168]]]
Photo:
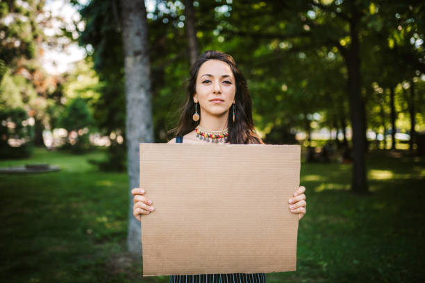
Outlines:
[[[139,187],[139,143],[153,142],[151,110],[151,74],[148,51],[146,8],[143,0],[122,3],[126,89],[126,142],[129,189]],[[133,196],[128,196],[128,250],[140,255],[140,222],[133,216]]]

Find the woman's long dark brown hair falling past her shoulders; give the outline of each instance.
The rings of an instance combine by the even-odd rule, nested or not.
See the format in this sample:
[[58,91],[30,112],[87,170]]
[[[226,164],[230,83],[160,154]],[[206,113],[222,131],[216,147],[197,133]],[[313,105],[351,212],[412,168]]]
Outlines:
[[[227,121],[228,142],[230,144],[264,144],[260,137],[258,137],[253,125],[252,101],[251,96],[249,96],[247,80],[236,66],[232,56],[220,51],[205,51],[199,55],[197,61],[190,68],[190,78],[186,81],[188,83],[188,96],[181,108],[178,126],[170,132],[176,132],[176,135],[183,136],[188,134],[188,132],[192,132],[199,125],[199,121],[193,121],[192,119],[195,112],[193,96],[196,92],[198,71],[204,62],[213,59],[227,63],[231,67],[236,81],[235,122],[233,123],[233,112],[229,111]],[[200,107],[197,110],[202,117]]]

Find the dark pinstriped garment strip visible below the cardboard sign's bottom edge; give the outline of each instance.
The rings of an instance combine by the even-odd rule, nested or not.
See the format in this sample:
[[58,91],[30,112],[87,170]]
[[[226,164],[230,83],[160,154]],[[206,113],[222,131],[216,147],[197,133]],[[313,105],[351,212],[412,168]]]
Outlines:
[[169,283],[265,283],[265,273],[171,275]]

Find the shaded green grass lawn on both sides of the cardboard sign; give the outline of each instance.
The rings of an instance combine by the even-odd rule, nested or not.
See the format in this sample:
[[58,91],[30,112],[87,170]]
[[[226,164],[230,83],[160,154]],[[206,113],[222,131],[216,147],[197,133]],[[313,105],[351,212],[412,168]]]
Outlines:
[[[126,252],[126,173],[37,148],[30,160],[62,170],[0,174],[2,282],[167,282],[141,277]],[[351,165],[302,164],[308,213],[300,221],[297,271],[267,282],[419,282],[425,277],[425,158],[369,153],[372,194],[349,191]]]

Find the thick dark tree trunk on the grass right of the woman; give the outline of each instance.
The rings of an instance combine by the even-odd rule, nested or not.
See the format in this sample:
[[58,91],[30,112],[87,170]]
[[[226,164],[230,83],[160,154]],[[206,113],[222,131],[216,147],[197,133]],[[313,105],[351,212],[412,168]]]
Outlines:
[[[354,4],[353,4],[354,5]],[[351,190],[367,193],[365,160],[365,104],[360,89],[360,41],[358,38],[358,14],[354,11],[350,21],[351,46],[346,49],[345,62],[348,69],[348,92],[353,136],[353,173]]]

